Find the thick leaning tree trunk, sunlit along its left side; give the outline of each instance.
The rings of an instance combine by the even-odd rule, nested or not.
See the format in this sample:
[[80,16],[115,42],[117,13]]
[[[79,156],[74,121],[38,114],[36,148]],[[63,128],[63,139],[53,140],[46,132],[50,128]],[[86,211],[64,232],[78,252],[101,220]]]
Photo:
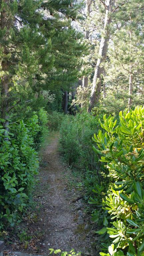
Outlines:
[[102,66],[102,63],[106,58],[108,42],[110,38],[109,24],[111,23],[111,15],[110,15],[110,12],[112,10],[111,0],[106,0],[105,6],[106,6],[106,13],[105,13],[104,29],[102,33],[101,42],[100,42],[99,57],[97,60],[97,65],[94,73],[93,86],[92,86],[92,91],[90,96],[88,112],[91,112],[91,109],[93,108],[94,104],[98,103],[99,101],[100,90],[101,90],[101,80],[104,72],[104,67]]

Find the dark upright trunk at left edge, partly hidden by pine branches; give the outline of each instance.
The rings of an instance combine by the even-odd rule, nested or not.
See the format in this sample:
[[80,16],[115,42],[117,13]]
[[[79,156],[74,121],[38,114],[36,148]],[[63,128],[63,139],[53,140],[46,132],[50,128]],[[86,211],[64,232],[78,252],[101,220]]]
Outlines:
[[[6,0],[4,2],[6,3]],[[0,19],[0,27],[1,27],[1,30],[3,30],[7,27],[7,16],[6,16],[5,8],[2,7],[1,5],[0,5],[0,8],[2,8],[2,10],[1,10],[1,19]],[[7,119],[8,118],[7,111],[8,111],[8,104],[9,104],[9,100],[8,100],[8,98],[9,98],[8,97],[9,77],[7,75],[7,72],[8,72],[8,61],[7,61],[8,51],[7,51],[6,46],[4,47],[3,53],[4,53],[4,58],[1,62],[2,71],[3,71],[3,76],[1,77],[1,118]],[[6,130],[5,135],[8,132],[8,125],[9,125],[9,122],[6,120],[3,123],[3,126]]]

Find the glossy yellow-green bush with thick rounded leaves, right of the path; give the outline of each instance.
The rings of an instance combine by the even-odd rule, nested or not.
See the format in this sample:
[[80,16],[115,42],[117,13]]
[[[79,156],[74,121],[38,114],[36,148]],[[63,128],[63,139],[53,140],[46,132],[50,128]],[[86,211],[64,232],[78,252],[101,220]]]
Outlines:
[[105,226],[113,244],[100,255],[140,256],[144,253],[144,107],[121,111],[119,120],[116,126],[117,120],[104,115],[104,122],[99,122],[105,133],[99,130],[93,138],[99,147],[94,151],[107,163],[111,179],[104,208],[112,220]]

